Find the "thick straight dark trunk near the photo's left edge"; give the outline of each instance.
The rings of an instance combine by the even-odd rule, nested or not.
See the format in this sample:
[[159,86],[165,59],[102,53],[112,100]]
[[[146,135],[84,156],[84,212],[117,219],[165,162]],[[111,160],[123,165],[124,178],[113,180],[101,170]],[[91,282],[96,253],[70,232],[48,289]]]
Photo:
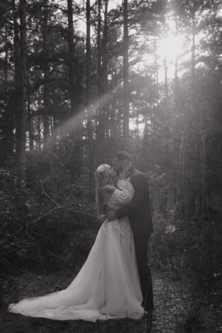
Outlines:
[[18,137],[19,177],[26,179],[26,0],[19,0],[20,12],[20,112]]

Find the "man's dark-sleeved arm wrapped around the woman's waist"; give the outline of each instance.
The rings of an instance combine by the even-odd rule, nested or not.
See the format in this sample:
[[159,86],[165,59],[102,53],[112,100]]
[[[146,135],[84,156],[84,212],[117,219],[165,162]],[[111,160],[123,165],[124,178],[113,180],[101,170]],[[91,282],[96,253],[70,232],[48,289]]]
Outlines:
[[118,219],[121,219],[123,216],[129,215],[132,212],[135,212],[139,207],[142,198],[146,194],[148,189],[148,182],[146,177],[143,174],[135,176],[133,180],[133,188],[135,190],[133,199],[128,203],[128,205],[121,205],[121,207],[115,211],[115,214]]

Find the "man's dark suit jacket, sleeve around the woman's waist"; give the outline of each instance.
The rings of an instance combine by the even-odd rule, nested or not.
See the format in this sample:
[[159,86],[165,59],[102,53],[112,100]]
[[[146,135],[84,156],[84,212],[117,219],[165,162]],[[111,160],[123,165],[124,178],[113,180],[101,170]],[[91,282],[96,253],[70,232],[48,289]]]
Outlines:
[[148,181],[144,174],[135,167],[130,168],[128,177],[135,190],[133,199],[128,205],[121,205],[115,211],[117,218],[128,216],[134,235],[151,234],[153,222],[148,191]]

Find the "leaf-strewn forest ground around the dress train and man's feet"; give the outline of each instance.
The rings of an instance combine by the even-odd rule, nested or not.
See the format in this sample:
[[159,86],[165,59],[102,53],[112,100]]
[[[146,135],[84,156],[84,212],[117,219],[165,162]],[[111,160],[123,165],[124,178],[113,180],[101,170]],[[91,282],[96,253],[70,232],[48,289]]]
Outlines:
[[[35,278],[34,282],[31,282]],[[7,280],[3,285],[6,296],[13,290],[20,290],[17,299],[42,296],[68,287],[74,276],[71,273],[60,273],[57,278],[41,282],[41,277],[22,275]],[[38,279],[38,280],[36,280]],[[50,281],[51,280],[51,281]],[[28,286],[28,287],[27,287]],[[153,312],[153,333],[222,332],[222,305],[216,307],[192,302],[184,282],[171,278],[169,273],[153,270],[153,289],[155,294],[155,311]],[[3,300],[3,298],[1,298]],[[2,302],[1,302],[2,303]],[[98,321],[51,321],[45,318],[31,318],[12,314],[1,306],[1,333],[117,333],[145,332],[145,318],[133,321],[128,318],[119,320]]]

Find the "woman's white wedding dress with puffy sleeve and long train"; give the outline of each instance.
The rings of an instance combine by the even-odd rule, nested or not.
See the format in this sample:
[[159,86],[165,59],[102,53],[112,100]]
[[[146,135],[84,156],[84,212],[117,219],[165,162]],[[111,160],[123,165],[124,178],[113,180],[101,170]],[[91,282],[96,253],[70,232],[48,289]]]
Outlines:
[[[133,187],[119,180],[108,206],[116,210],[129,203]],[[97,234],[87,260],[73,282],[62,291],[10,304],[9,311],[53,320],[97,321],[110,318],[139,319],[144,314],[128,217],[108,222]]]

